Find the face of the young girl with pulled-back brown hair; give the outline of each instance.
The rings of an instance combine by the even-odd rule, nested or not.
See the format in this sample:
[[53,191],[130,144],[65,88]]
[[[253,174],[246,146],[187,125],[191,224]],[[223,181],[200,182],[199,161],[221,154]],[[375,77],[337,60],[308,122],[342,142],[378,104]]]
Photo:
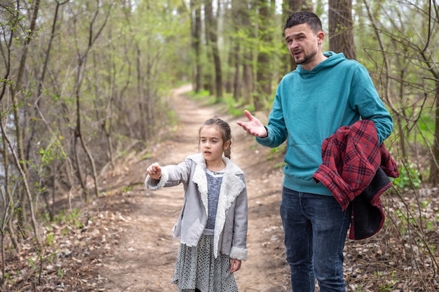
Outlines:
[[212,165],[222,160],[222,153],[230,145],[230,141],[222,141],[221,131],[216,126],[204,126],[200,131],[200,151],[206,163]]

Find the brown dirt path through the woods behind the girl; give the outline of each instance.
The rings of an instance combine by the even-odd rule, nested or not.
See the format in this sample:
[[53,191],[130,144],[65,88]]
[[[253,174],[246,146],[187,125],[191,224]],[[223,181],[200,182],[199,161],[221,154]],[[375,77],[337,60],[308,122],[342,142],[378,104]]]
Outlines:
[[[285,264],[283,232],[278,215],[282,173],[273,169],[278,159],[268,160],[269,149],[256,144],[238,125],[236,118],[217,113],[212,106],[199,106],[184,98],[184,86],[175,91],[173,105],[180,122],[172,137],[153,147],[151,159],[136,160],[113,173],[104,183],[113,188],[130,186],[107,195],[102,216],[112,221],[103,237],[108,252],[99,258],[97,277],[104,279],[103,291],[177,291],[170,284],[178,239],[171,228],[182,206],[182,186],[151,192],[140,182],[151,162],[175,164],[197,152],[198,127],[204,120],[219,116],[232,127],[234,144],[231,159],[245,172],[249,198],[248,260],[236,272],[241,292],[290,291]],[[102,254],[102,253],[101,253]]]

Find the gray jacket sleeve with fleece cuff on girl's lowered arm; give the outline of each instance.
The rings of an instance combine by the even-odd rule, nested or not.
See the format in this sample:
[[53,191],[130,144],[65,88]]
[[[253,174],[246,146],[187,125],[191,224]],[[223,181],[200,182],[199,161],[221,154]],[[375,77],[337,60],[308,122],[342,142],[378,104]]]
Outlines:
[[[244,181],[245,184],[245,181]],[[231,243],[230,257],[237,260],[247,260],[247,230],[248,230],[248,199],[247,188],[236,197],[234,235]]]

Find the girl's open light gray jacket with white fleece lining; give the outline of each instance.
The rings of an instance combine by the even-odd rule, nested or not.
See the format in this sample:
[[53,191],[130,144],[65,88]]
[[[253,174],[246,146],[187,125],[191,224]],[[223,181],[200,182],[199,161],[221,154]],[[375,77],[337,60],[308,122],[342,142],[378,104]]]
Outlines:
[[[229,158],[222,177],[215,219],[214,254],[247,260],[248,202],[243,171]],[[179,165],[161,169],[161,179],[149,175],[144,184],[149,190],[177,186],[183,183],[184,202],[173,231],[182,244],[196,246],[208,221],[208,180],[205,158],[201,153],[189,155]]]

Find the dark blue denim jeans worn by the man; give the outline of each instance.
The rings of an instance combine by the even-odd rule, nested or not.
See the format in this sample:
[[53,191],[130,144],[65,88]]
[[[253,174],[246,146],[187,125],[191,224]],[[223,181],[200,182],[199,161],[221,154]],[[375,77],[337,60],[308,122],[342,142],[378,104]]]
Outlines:
[[285,231],[292,292],[344,292],[343,248],[351,207],[342,211],[335,197],[283,188],[281,218]]

